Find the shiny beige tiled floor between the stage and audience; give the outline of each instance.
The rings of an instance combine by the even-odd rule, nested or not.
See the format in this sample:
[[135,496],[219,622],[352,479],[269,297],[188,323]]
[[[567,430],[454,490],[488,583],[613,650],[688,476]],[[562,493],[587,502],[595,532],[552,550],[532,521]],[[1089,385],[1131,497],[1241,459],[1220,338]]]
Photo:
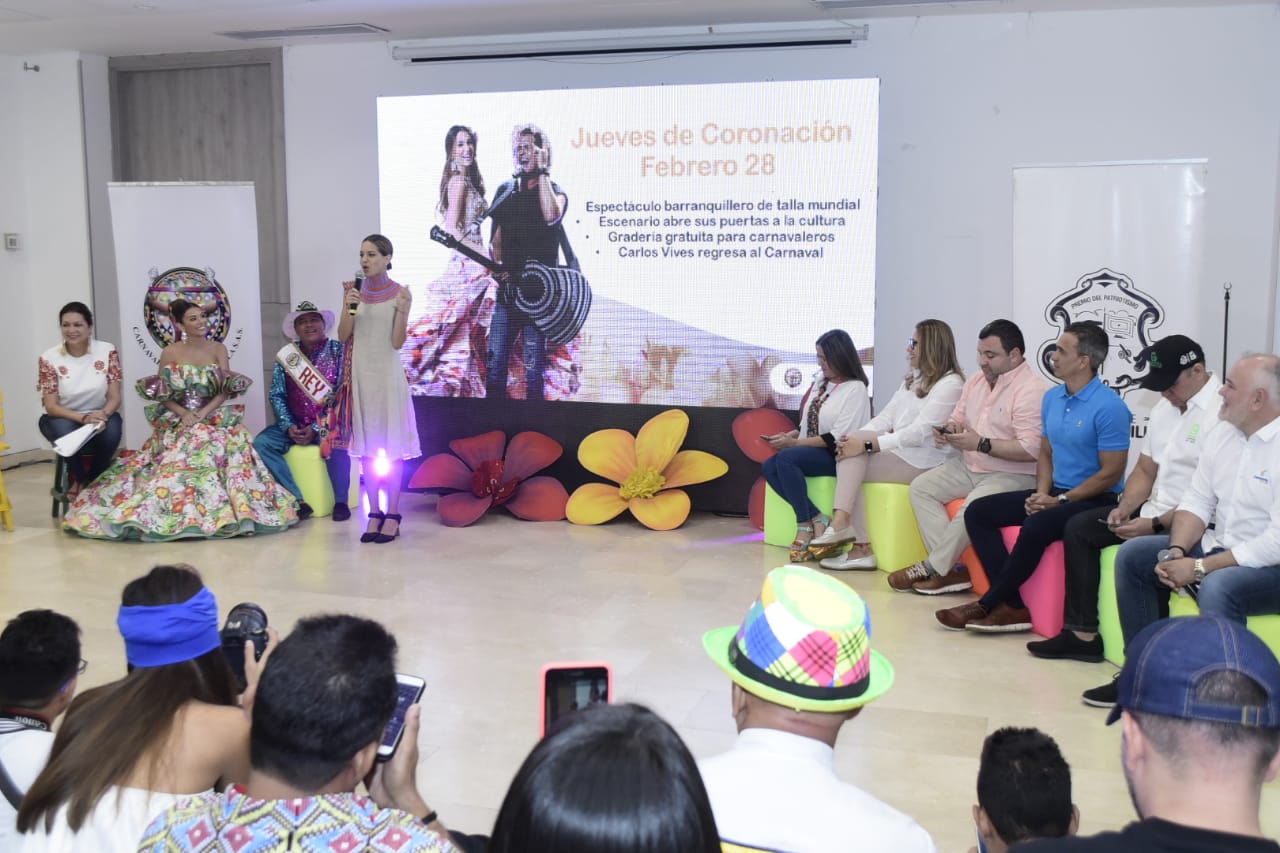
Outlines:
[[[538,674],[554,660],[613,663],[616,695],[669,720],[694,754],[733,738],[728,681],[701,652],[701,633],[737,622],[760,579],[786,561],[741,519],[695,515],[657,533],[630,517],[600,528],[517,521],[493,514],[448,529],[435,498],[403,501],[394,543],[357,542],[357,519],[314,519],[279,535],[225,542],[119,544],[63,534],[49,517],[52,466],[4,471],[18,528],[0,532],[0,615],[54,607],[84,630],[82,685],[124,672],[115,607],[125,581],[156,564],[189,562],[221,611],[256,601],[287,629],[298,616],[348,611],[398,637],[402,670],[428,681],[422,790],[451,826],[486,831],[532,747]],[[978,752],[1002,725],[1057,738],[1074,772],[1082,831],[1133,817],[1119,733],[1079,702],[1107,663],[1038,661],[1027,637],[945,631],[937,598],[897,594],[883,573],[841,575],[872,608],[874,646],[895,686],[841,733],[838,772],[914,815],[941,850],[973,843]],[[957,601],[945,597],[946,602]],[[1263,797],[1263,827],[1280,834],[1280,784]]]

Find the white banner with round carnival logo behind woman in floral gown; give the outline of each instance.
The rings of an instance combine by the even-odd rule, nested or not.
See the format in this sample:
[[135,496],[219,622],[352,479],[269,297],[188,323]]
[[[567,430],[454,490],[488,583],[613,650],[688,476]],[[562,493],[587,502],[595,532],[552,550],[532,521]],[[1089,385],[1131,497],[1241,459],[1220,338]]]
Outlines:
[[111,231],[119,280],[116,342],[124,369],[124,443],[151,434],[134,383],[157,370],[173,342],[166,306],[175,298],[206,306],[209,334],[227,345],[232,370],[253,379],[234,402],[244,425],[266,424],[262,315],[259,307],[257,210],[252,183],[113,183]]

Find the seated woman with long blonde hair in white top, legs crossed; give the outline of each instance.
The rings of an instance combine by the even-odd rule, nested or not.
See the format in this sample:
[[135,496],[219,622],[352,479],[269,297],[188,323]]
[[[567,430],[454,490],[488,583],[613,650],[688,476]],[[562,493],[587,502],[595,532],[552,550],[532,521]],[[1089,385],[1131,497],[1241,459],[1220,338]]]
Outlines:
[[863,483],[910,483],[952,452],[933,441],[934,429],[951,418],[964,389],[951,327],[942,320],[920,320],[906,353],[911,369],[893,398],[881,414],[836,443],[836,508],[831,526],[814,538],[813,547],[845,542],[854,547],[847,555],[823,560],[824,569],[876,569]]

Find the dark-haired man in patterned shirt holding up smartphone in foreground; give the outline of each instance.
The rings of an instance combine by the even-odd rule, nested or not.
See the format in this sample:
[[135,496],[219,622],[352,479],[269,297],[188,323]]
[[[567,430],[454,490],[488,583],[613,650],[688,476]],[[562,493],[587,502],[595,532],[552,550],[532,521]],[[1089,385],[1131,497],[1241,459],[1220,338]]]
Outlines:
[[[255,849],[454,853],[448,830],[417,792],[419,707],[403,743],[375,765],[396,708],[396,639],[355,616],[300,620],[264,654],[251,710],[244,785],[197,794],[161,813],[138,850],[212,853],[252,838]],[[365,781],[369,798],[357,795]]]

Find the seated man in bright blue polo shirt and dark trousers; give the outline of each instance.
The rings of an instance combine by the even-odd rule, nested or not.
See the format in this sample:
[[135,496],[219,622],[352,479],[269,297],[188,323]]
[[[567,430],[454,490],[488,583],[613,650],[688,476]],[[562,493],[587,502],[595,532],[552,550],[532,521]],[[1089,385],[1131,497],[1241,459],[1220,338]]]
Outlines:
[[[975,602],[934,613],[943,628],[977,633],[1029,631],[1030,611],[1019,588],[1036,571],[1044,549],[1062,538],[1078,512],[1115,506],[1124,489],[1133,415],[1120,396],[1102,384],[1107,333],[1097,323],[1071,323],[1050,355],[1060,384],[1044,393],[1044,437],[1036,462],[1034,492],[979,498],[964,514],[969,542],[991,589]],[[1020,525],[1012,551],[1001,528]]]

